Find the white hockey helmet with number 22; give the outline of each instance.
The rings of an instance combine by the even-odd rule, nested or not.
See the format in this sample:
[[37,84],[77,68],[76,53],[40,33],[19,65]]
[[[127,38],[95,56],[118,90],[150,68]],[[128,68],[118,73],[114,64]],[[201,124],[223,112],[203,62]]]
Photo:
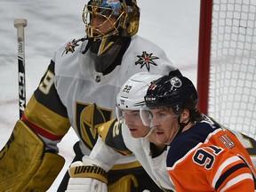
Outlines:
[[148,91],[149,85],[160,78],[161,75],[152,75],[141,72],[131,76],[121,87],[116,96],[116,116],[118,121],[124,120],[124,109],[140,110],[145,105],[144,96]]

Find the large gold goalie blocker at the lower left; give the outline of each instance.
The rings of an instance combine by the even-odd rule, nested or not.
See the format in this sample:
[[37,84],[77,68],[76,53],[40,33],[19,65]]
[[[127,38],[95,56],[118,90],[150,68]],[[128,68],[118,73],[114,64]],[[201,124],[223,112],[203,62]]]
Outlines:
[[0,188],[3,191],[46,191],[65,160],[45,153],[44,142],[22,121],[0,151]]

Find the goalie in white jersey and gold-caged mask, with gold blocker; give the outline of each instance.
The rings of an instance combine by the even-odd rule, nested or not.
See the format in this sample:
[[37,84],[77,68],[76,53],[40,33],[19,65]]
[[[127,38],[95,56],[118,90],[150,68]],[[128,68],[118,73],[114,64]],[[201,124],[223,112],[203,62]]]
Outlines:
[[[89,156],[100,125],[116,116],[116,93],[133,74],[180,74],[162,49],[136,35],[140,9],[135,0],[90,0],[84,6],[83,19],[86,36],[62,44],[54,52],[0,152],[1,190],[50,188],[64,164],[57,144],[70,127],[80,139],[74,146],[74,161]],[[134,156],[116,164],[108,172],[109,186],[132,175],[139,185],[134,181],[127,191],[151,184],[157,190]],[[59,191],[65,191],[68,178],[66,174]]]

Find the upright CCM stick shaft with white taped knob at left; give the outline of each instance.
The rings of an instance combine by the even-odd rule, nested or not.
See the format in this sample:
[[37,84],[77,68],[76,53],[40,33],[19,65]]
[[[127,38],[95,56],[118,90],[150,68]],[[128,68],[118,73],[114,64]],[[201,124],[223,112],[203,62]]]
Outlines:
[[26,84],[25,84],[25,46],[24,46],[24,28],[27,26],[27,20],[14,20],[14,27],[17,28],[18,41],[18,80],[19,80],[19,109],[20,117],[26,107]]

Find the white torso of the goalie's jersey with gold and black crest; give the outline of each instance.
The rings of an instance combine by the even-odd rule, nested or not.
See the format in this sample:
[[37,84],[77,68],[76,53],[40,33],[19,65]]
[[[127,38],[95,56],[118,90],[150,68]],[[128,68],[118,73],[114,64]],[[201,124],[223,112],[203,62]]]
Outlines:
[[[122,64],[103,74],[95,70],[94,60],[87,55],[88,52],[83,52],[86,44],[86,40],[73,41],[68,48],[64,44],[53,59],[54,84],[68,110],[70,124],[81,140],[84,155],[90,153],[97,140],[97,128],[115,118],[116,94],[130,76],[138,72],[168,75],[177,70],[156,44],[132,36]],[[75,52],[71,52],[70,47],[74,47]]]

